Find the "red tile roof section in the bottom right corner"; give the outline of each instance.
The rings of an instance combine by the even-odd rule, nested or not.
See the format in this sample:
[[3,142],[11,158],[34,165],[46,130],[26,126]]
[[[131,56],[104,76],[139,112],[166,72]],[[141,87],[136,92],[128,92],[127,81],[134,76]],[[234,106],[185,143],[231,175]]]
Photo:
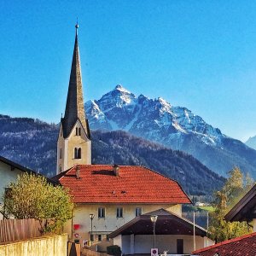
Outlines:
[[193,252],[195,255],[213,256],[253,256],[256,255],[256,232],[219,242],[211,247],[205,247]]

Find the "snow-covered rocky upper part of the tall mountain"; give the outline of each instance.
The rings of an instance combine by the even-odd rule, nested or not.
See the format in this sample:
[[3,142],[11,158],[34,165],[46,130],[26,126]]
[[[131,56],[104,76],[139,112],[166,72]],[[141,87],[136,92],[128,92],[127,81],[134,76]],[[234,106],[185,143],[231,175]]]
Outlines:
[[[163,98],[136,97],[117,85],[98,101],[86,102],[92,129],[124,130],[166,144],[180,134],[193,133],[204,143],[219,144],[224,135],[187,108],[173,107]],[[163,137],[164,136],[164,137]]]

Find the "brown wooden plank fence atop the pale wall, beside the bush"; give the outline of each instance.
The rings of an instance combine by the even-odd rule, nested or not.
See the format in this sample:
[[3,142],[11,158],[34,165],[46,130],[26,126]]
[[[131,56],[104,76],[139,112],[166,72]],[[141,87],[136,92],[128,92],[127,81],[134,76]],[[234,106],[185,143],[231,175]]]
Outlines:
[[33,218],[3,219],[0,220],[0,243],[42,236],[40,230],[39,221]]

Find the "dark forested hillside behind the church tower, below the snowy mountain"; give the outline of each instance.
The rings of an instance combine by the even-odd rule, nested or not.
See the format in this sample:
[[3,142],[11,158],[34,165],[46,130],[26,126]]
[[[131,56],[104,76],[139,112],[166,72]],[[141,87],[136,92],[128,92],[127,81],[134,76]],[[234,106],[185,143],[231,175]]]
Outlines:
[[[55,175],[58,125],[0,115],[0,155],[46,175]],[[150,143],[125,131],[92,131],[94,164],[142,165],[172,177],[190,195],[211,195],[224,178],[193,156]]]

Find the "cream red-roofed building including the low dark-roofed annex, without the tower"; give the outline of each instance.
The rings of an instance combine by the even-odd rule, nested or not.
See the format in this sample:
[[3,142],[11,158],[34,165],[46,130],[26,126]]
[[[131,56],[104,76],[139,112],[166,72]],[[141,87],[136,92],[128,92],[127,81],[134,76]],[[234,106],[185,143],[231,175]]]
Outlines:
[[[158,214],[160,250],[171,251],[171,245],[174,253],[194,250],[193,224],[182,218],[182,204],[191,201],[169,177],[143,166],[80,165],[61,172],[55,181],[73,196],[73,221],[65,231],[82,246],[92,241],[101,251],[118,244],[124,253],[149,253],[153,234],[150,215]],[[207,231],[199,226],[195,229],[196,248],[207,246]],[[113,240],[107,240],[107,235]],[[141,243],[143,247],[136,246]]]

